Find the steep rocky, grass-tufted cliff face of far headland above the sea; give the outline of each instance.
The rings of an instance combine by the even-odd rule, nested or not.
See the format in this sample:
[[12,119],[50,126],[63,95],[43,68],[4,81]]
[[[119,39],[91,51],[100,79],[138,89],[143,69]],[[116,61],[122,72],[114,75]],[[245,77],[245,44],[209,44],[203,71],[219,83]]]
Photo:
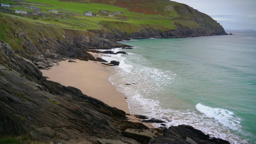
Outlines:
[[[120,22],[100,23],[102,30],[89,30],[100,38],[122,40],[129,38],[184,38],[195,36],[227,35],[224,28],[207,14],[194,8],[181,4],[174,6],[179,18],[173,18],[175,28],[165,26],[153,26],[150,24],[133,25]],[[118,25],[131,28],[124,30]]]

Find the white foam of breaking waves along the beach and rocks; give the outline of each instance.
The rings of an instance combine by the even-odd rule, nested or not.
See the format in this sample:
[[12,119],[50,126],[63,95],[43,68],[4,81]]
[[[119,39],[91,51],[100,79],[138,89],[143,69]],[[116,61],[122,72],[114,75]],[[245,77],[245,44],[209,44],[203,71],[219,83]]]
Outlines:
[[[241,127],[241,119],[236,117],[233,112],[210,108],[202,104],[197,104],[195,109],[173,110],[171,105],[160,103],[163,98],[158,97],[159,94],[168,92],[167,87],[175,84],[176,74],[148,67],[146,59],[136,54],[110,56],[104,57],[104,59],[117,60],[120,65],[109,67],[111,70],[118,71],[109,80],[128,97],[126,100],[132,114],[161,119],[166,122],[166,127],[181,124],[191,125],[206,134],[228,140],[232,144],[247,143],[244,138],[231,132],[231,130],[239,130]],[[134,62],[136,64],[133,64]],[[160,124],[153,125],[161,126]]]

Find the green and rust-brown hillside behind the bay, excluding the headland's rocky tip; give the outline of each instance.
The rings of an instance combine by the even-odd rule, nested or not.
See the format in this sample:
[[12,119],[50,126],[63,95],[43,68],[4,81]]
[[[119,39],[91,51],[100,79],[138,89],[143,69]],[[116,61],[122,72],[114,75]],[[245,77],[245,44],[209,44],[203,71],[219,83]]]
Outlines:
[[[10,9],[33,12],[28,10],[27,6],[36,6],[46,15],[24,17],[13,12],[0,13],[0,15],[76,30],[107,28],[130,33],[145,26],[158,30],[173,30],[176,26],[200,27],[194,20],[190,20],[191,14],[183,14],[180,11],[182,4],[169,0],[72,0],[72,2],[71,0],[18,0],[18,2],[23,8],[18,6]],[[59,14],[50,13],[49,10],[58,10]],[[88,10],[98,16],[84,16]],[[101,14],[100,10],[107,10],[108,14],[111,12],[121,12],[121,14],[110,17],[108,14]]]

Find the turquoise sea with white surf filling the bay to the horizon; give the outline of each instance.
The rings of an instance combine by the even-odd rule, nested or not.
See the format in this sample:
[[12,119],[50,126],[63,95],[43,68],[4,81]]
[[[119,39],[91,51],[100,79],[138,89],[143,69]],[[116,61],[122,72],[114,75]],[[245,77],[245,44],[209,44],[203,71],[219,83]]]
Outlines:
[[232,33],[127,40],[121,43],[134,46],[122,50],[128,55],[103,58],[120,62],[108,68],[118,72],[109,79],[128,97],[132,114],[162,119],[167,127],[188,124],[232,144],[254,144],[256,32]]

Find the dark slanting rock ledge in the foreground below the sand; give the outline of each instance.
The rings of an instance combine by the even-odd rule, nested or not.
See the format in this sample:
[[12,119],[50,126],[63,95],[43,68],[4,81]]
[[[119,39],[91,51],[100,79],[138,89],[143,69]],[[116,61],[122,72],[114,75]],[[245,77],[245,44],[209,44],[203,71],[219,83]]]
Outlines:
[[33,63],[39,60],[0,41],[0,135],[53,144],[229,144],[191,126],[130,122],[124,111],[46,80]]

